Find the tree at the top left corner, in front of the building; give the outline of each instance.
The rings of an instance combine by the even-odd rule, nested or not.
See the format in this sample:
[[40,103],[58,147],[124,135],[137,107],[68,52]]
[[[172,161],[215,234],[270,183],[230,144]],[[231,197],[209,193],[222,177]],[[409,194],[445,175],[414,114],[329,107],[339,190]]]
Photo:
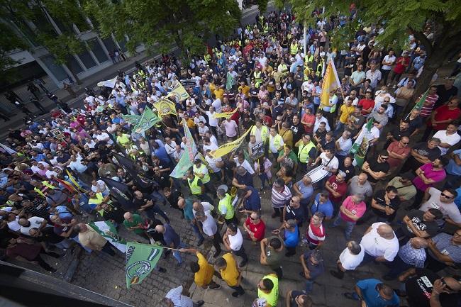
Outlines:
[[[50,17],[59,30],[52,25]],[[31,45],[43,45],[55,56],[57,64],[70,67],[70,57],[84,50],[74,26],[79,30],[91,28],[77,0],[0,0],[0,19],[4,21],[0,23],[3,36],[0,39],[2,71],[17,64],[7,59],[9,52],[30,50]],[[35,27],[31,27],[30,22]],[[72,73],[79,82],[76,73]]]

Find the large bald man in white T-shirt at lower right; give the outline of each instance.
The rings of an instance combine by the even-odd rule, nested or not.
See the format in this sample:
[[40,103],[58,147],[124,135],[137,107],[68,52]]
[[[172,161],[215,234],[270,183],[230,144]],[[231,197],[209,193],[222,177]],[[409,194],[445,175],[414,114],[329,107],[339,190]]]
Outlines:
[[374,223],[365,231],[360,245],[365,248],[363,263],[374,259],[377,262],[391,262],[399,252],[399,239],[386,223]]

